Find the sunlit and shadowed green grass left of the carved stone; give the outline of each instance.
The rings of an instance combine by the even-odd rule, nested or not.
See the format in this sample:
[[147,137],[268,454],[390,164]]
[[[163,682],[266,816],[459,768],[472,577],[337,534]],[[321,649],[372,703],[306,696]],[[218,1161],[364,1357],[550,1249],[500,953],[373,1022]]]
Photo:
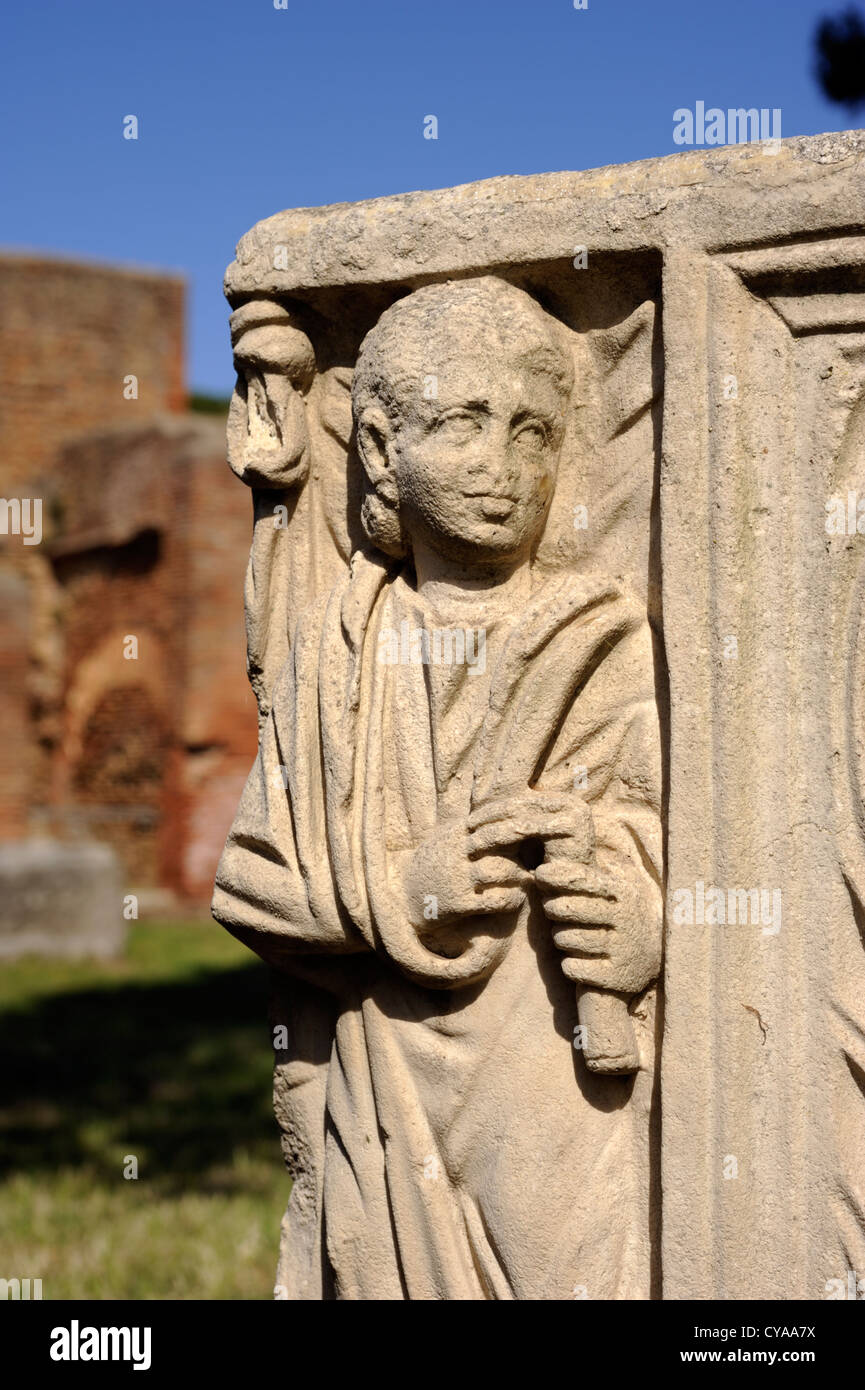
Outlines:
[[273,1297],[289,1180],[267,970],[228,933],[136,923],[124,960],[4,965],[0,1056],[0,1277]]

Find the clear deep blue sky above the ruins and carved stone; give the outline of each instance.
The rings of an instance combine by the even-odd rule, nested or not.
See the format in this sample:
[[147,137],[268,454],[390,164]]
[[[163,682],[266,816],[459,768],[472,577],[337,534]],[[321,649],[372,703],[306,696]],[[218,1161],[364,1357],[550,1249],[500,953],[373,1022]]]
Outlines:
[[[0,245],[182,271],[189,382],[234,375],[238,238],[284,207],[668,154],[673,111],[850,125],[812,78],[844,0],[17,0]],[[139,139],[122,139],[124,115]],[[438,139],[423,120],[438,118]],[[862,117],[865,122],[865,115]]]

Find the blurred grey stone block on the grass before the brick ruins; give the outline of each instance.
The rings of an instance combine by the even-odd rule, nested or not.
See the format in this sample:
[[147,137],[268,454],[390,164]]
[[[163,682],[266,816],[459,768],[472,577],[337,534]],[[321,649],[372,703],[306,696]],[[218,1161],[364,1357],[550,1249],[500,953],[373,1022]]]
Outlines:
[[0,959],[118,955],[122,908],[120,863],[107,845],[0,845]]

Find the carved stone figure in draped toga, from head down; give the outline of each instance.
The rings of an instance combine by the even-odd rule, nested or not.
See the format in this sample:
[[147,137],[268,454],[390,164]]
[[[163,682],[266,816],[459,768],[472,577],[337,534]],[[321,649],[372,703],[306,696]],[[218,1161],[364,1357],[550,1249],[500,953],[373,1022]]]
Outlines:
[[[362,345],[370,545],[298,624],[213,906],[331,999],[284,1097],[296,1297],[652,1291],[652,646],[619,584],[534,563],[572,388],[562,325],[495,278]],[[406,630],[484,660],[394,660]],[[587,1068],[574,986],[630,1001],[636,1074]]]

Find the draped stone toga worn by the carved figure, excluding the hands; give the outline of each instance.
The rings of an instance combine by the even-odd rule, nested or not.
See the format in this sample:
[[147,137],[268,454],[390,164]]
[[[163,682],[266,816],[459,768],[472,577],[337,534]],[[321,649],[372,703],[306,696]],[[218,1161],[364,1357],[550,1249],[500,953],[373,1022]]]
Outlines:
[[324,1001],[288,1020],[280,1277],[307,1298],[645,1298],[655,991],[631,1004],[642,1069],[594,1074],[537,890],[439,935],[410,924],[402,869],[534,787],[591,805],[598,863],[659,915],[651,631],[574,574],[535,577],[516,614],[464,612],[483,664],[381,660],[382,632],[453,613],[355,556],[298,624],[218,867],[217,920]]

